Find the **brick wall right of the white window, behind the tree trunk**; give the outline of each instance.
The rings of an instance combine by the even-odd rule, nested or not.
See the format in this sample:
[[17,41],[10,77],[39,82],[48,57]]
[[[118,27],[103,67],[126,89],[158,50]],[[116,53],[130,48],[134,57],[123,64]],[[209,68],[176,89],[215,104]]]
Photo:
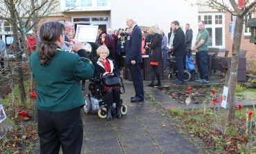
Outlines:
[[[255,13],[256,14],[256,13]],[[228,30],[229,24],[232,23],[231,21],[231,14],[229,12],[225,13],[225,34],[226,34],[226,48],[230,50],[228,57],[232,56],[232,42],[233,40],[230,39],[231,32]],[[256,57],[256,45],[253,43],[250,43],[250,39],[244,38],[244,30],[242,32],[241,36],[241,50],[247,50],[246,57],[247,58],[255,58]]]

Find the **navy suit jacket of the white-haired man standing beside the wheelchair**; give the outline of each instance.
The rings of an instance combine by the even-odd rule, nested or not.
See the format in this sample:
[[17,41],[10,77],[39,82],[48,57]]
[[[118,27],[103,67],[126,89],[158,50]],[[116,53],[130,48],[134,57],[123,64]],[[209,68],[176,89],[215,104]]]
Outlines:
[[131,64],[131,60],[136,61],[136,64],[142,63],[143,58],[141,55],[141,41],[142,34],[138,25],[134,26],[131,31],[131,35],[127,37],[126,44],[126,63]]

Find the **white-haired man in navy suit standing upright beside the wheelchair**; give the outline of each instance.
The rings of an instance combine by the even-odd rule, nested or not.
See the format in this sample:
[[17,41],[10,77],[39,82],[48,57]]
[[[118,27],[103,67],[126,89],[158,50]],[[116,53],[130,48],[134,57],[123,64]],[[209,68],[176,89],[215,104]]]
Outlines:
[[143,58],[141,55],[141,30],[136,24],[134,17],[127,17],[127,26],[131,29],[131,34],[127,37],[126,44],[126,63],[129,66],[131,78],[134,83],[135,96],[131,97],[131,102],[143,102],[143,75],[141,74],[141,63]]

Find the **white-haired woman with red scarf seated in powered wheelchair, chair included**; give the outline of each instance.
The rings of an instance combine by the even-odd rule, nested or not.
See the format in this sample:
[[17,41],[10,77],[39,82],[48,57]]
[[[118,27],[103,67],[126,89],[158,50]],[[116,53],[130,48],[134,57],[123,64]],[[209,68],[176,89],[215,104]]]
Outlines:
[[[103,79],[107,77],[106,75],[113,75],[112,77],[117,77],[122,83],[120,71],[116,62],[108,58],[109,49],[106,46],[100,46],[97,49],[97,55],[98,57],[93,59],[93,65],[95,67],[94,78],[90,80],[89,84],[89,90],[91,90],[93,95],[93,98],[90,99],[91,101],[102,99],[102,102],[98,101],[99,106],[107,106],[107,113],[105,108],[98,108],[98,115],[100,117],[107,115],[107,120],[111,121],[111,113],[113,109],[116,109],[116,117],[120,119],[127,111],[127,106],[122,105],[122,100],[120,99],[120,92],[124,90],[123,86],[120,84],[107,85],[107,82],[104,82]],[[91,107],[93,108],[93,106]]]

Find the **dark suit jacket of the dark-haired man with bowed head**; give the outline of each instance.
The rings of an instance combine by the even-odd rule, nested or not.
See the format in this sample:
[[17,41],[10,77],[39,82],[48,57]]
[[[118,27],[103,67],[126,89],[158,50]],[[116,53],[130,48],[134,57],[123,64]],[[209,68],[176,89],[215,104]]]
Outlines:
[[172,45],[172,52],[174,56],[185,55],[185,34],[181,28],[174,32],[174,44]]

